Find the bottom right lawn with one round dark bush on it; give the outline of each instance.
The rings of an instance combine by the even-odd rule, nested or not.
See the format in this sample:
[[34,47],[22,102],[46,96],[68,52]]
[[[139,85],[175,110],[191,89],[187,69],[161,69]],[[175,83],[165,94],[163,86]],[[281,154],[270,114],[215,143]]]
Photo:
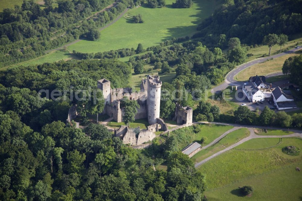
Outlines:
[[[288,168],[272,171],[257,177],[234,183],[226,188],[214,191],[206,191],[205,195],[211,201],[277,201],[291,200],[301,201],[302,196],[302,174],[295,170],[302,167],[302,162],[293,164]],[[242,197],[238,187],[250,185],[254,192],[251,197]]]

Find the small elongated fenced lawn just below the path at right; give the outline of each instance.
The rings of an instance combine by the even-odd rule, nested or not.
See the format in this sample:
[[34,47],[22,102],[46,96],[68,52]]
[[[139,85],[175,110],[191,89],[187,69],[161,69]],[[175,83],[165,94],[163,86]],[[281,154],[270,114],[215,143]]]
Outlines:
[[268,148],[278,144],[279,138],[254,138],[249,141],[243,142],[241,145],[236,146],[236,148],[241,149],[261,149]]

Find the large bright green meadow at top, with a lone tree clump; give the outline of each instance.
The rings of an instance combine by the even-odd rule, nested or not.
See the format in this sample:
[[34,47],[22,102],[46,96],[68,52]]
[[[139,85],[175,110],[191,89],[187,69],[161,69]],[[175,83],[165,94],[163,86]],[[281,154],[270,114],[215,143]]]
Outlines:
[[[157,45],[172,37],[184,37],[196,32],[197,25],[218,5],[216,1],[193,1],[191,8],[172,8],[173,0],[166,0],[164,8],[148,8],[142,5],[130,9],[123,18],[101,31],[98,41],[83,40],[69,46],[70,50],[84,53],[103,52],[111,49],[136,48]],[[133,23],[130,16],[141,14],[144,23]]]

